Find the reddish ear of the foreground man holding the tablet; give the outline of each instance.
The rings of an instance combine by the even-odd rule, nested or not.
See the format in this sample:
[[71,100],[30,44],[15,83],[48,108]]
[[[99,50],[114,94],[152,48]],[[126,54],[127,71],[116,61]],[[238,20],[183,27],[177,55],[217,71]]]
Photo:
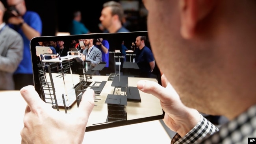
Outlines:
[[195,35],[198,22],[213,10],[216,0],[179,0],[181,17],[180,33],[184,39]]

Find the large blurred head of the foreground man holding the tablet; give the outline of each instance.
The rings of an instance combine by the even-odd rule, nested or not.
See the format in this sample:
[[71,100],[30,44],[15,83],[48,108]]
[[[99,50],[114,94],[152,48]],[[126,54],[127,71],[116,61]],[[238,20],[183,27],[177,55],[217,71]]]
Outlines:
[[256,103],[255,1],[143,2],[156,62],[185,105],[234,116]]

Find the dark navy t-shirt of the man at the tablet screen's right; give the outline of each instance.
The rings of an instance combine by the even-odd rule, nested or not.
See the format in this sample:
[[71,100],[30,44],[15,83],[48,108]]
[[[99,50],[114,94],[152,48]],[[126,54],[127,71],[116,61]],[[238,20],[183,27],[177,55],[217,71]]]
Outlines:
[[135,50],[135,63],[139,66],[141,72],[151,72],[150,62],[154,61],[154,56],[151,50],[144,46],[141,50]]

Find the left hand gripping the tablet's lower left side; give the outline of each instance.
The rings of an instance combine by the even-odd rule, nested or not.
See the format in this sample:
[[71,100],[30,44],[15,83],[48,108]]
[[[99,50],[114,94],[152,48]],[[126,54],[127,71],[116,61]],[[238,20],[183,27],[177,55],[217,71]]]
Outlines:
[[22,144],[81,144],[89,115],[94,107],[94,91],[86,90],[80,105],[71,114],[58,112],[43,102],[33,86],[20,93],[27,102]]

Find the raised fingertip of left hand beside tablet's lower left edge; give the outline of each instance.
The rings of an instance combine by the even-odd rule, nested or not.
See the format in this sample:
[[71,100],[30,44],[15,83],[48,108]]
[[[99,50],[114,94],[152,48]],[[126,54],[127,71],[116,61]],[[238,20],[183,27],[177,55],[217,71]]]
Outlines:
[[20,94],[30,107],[31,111],[33,111],[34,109],[38,109],[39,107],[43,107],[44,102],[43,100],[41,100],[32,85],[20,89]]

